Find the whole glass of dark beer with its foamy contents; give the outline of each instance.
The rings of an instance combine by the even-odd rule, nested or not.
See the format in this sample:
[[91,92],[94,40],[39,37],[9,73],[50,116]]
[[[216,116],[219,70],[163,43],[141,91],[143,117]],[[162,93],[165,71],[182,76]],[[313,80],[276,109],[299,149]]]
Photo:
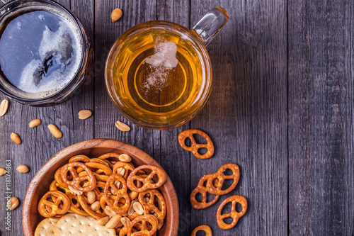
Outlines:
[[1,6],[0,91],[11,99],[30,106],[62,103],[89,78],[92,60],[84,26],[64,6],[50,0]]

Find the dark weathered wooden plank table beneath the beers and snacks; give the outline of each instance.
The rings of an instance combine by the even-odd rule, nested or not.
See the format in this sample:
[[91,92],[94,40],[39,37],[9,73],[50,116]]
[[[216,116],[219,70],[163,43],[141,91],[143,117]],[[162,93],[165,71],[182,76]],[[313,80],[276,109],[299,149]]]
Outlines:
[[[200,224],[214,235],[353,235],[354,233],[354,30],[353,1],[323,0],[61,0],[89,30],[95,45],[94,79],[74,99],[50,108],[15,101],[0,117],[0,166],[11,160],[13,196],[22,201],[30,180],[53,154],[91,138],[130,143],[156,159],[171,177],[180,204],[179,235]],[[166,20],[193,27],[213,6],[230,20],[207,47],[214,81],[207,105],[190,123],[173,130],[147,130],[127,122],[103,84],[105,57],[116,38],[135,24]],[[110,12],[123,10],[112,23]],[[4,99],[4,96],[0,96]],[[79,120],[81,109],[93,117]],[[40,118],[42,125],[28,128]],[[63,132],[55,139],[54,123]],[[196,159],[177,135],[198,128],[215,143],[214,157]],[[10,140],[21,135],[22,145]],[[217,227],[219,203],[190,207],[189,194],[204,174],[236,163],[241,179],[227,196],[248,199],[246,215],[232,230]],[[19,164],[28,174],[16,172]],[[0,230],[22,235],[21,205],[5,230],[5,177],[0,177]]]

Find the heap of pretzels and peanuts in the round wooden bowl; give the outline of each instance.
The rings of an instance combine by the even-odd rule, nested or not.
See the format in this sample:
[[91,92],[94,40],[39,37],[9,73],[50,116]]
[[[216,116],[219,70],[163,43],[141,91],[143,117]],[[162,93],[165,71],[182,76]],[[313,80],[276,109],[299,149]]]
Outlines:
[[45,218],[61,218],[66,213],[103,221],[115,217],[120,218],[114,225],[119,236],[156,235],[166,217],[166,201],[157,190],[166,181],[166,173],[152,165],[135,168],[126,157],[112,152],[98,158],[83,154],[70,158],[55,172],[38,212]]

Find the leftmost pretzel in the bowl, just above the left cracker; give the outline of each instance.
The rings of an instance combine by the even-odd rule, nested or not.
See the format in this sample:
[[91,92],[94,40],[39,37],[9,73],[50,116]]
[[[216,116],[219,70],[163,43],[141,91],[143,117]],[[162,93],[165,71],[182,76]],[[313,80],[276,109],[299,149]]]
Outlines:
[[[54,196],[55,198],[52,198]],[[62,203],[62,205],[60,205]],[[50,218],[57,214],[64,214],[70,208],[70,199],[61,191],[48,191],[38,203],[40,215]]]

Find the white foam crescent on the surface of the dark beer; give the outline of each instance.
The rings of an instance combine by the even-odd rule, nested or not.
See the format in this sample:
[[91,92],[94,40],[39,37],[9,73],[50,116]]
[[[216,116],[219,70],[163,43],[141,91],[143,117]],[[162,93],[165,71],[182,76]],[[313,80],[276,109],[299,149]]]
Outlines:
[[[59,22],[59,28],[55,32],[45,26],[39,47],[40,60],[34,59],[25,66],[18,89],[38,96],[41,94],[43,97],[54,94],[75,76],[81,62],[81,51],[77,33],[63,21]],[[38,70],[42,69],[49,57],[56,68],[40,79]]]

